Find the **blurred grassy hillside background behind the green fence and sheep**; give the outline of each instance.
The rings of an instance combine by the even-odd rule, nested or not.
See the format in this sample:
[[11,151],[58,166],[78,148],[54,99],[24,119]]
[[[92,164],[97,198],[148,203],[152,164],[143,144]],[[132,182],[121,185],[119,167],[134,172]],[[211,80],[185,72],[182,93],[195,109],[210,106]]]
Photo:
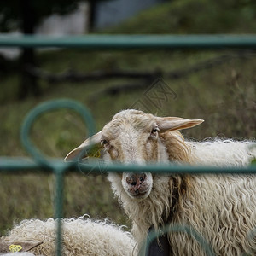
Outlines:
[[[256,33],[254,0],[9,0],[0,2],[0,32],[12,34]],[[0,49],[0,155],[28,156],[20,125],[46,100],[82,102],[97,130],[121,109],[205,119],[189,139],[255,138],[256,52],[250,49]],[[47,113],[33,125],[44,154],[64,158],[86,137],[76,113]],[[54,177],[0,174],[0,235],[24,218],[53,217]],[[130,220],[106,176],[65,177],[64,215]]]

